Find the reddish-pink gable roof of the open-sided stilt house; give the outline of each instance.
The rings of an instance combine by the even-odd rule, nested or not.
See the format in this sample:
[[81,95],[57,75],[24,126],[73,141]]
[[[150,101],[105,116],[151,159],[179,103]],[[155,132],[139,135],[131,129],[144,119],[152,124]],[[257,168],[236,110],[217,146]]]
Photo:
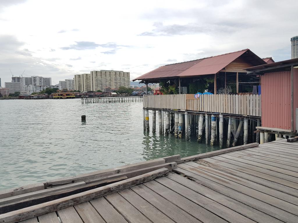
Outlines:
[[254,57],[254,62],[252,64],[266,64],[263,59],[258,57],[252,51],[250,51],[249,49],[244,49],[232,53],[221,54],[218,56],[211,56],[187,62],[164,65],[148,73],[145,73],[142,76],[139,76],[133,81],[215,74],[224,69],[224,67],[229,65],[231,62],[233,62],[244,53],[248,53],[250,54],[250,56]]

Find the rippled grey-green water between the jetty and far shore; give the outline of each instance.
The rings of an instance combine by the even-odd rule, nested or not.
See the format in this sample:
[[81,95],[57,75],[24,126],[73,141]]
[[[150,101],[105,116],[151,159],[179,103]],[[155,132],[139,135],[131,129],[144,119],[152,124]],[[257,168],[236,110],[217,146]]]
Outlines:
[[195,138],[186,142],[172,135],[144,134],[142,115],[142,103],[0,100],[0,190],[218,149]]

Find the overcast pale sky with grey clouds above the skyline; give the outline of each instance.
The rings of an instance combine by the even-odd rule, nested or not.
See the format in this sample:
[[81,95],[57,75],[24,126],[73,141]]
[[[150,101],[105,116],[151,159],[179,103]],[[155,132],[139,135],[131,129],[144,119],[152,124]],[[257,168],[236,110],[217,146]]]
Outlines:
[[0,78],[159,66],[249,48],[291,59],[298,1],[0,0]]

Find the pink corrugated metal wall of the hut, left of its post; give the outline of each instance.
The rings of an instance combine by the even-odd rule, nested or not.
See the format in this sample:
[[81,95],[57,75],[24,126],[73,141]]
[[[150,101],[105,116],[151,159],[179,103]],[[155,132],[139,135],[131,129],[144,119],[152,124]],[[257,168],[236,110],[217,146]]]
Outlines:
[[261,100],[262,126],[291,130],[291,71],[261,76]]

